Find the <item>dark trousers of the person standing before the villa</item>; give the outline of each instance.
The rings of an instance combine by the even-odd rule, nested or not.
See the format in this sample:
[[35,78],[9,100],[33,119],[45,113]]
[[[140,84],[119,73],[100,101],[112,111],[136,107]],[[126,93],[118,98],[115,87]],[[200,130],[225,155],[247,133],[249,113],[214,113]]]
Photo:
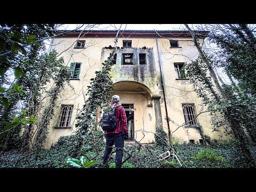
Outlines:
[[109,155],[111,154],[112,147],[115,144],[116,147],[116,168],[121,168],[122,166],[122,159],[124,155],[124,137],[123,133],[119,132],[117,134],[113,135],[105,135],[106,137],[106,149],[104,151],[104,156],[103,156],[103,164],[107,166],[108,160],[109,160]]

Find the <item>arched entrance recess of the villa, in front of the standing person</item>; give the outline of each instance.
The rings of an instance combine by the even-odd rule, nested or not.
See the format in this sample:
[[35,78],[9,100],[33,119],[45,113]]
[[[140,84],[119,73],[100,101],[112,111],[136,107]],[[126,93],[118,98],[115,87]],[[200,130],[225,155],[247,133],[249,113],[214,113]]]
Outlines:
[[141,143],[153,142],[155,116],[150,89],[138,82],[121,81],[114,84],[112,95],[114,94],[119,95],[119,104],[125,108],[129,140],[135,139]]

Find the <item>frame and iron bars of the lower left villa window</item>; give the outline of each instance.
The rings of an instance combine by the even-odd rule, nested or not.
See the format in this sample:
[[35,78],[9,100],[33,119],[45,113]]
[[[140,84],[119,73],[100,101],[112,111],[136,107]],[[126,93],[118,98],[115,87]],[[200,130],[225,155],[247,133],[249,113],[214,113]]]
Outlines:
[[[63,113],[65,113],[65,111],[63,112],[63,110],[65,109],[65,107],[68,107],[68,109],[66,111],[66,114],[64,115]],[[71,107],[71,110],[70,110],[70,107]],[[73,104],[61,104],[58,126],[56,128],[71,128],[71,118],[72,118],[72,114],[73,114],[73,109],[74,109]],[[62,117],[65,119],[63,119]],[[68,117],[69,117],[69,119],[68,119]],[[61,126],[63,124],[64,125],[67,124],[67,125]]]

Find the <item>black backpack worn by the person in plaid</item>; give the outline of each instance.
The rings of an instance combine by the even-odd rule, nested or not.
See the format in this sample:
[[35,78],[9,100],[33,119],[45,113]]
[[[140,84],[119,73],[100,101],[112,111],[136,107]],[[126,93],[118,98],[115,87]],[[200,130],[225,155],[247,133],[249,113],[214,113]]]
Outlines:
[[103,131],[114,131],[117,126],[115,110],[119,105],[116,105],[110,112],[106,111],[103,113],[103,116],[100,121],[100,125]]

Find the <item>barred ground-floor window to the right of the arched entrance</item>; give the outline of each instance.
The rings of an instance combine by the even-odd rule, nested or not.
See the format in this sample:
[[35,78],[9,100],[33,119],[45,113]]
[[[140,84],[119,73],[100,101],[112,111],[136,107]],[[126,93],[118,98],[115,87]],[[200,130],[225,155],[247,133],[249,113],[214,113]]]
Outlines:
[[196,113],[194,104],[182,104],[183,114],[185,118],[185,126],[196,125]]

